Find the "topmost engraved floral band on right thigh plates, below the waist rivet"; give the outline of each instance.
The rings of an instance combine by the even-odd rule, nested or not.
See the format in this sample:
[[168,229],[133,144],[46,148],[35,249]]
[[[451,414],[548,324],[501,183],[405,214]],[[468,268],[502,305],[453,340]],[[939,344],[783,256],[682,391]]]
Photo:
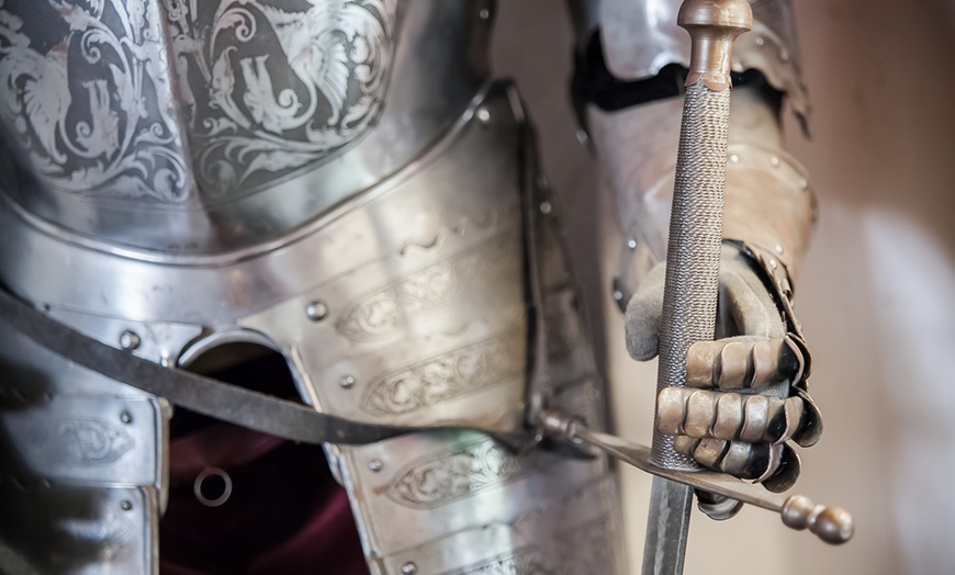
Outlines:
[[505,277],[519,277],[519,249],[517,239],[506,236],[405,275],[351,304],[336,328],[355,341],[394,335],[408,318],[458,304]]

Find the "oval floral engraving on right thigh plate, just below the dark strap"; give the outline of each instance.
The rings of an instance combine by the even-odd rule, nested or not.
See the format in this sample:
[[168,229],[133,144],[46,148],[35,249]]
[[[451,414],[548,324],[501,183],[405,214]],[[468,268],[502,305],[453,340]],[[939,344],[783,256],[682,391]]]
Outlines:
[[537,458],[482,439],[411,463],[396,474],[387,497],[406,507],[438,507],[515,481],[536,466]]

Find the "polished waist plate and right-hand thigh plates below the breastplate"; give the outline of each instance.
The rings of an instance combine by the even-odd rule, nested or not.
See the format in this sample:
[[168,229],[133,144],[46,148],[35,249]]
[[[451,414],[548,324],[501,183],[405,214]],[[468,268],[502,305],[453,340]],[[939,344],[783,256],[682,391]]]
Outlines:
[[[418,160],[262,253],[123,257],[3,210],[2,281],[58,322],[160,365],[249,341],[280,351],[323,411],[513,430],[526,401],[523,198],[533,193],[549,397],[599,425],[604,395],[557,248],[557,206],[529,189],[537,177],[520,164],[528,137],[516,93],[491,86]],[[44,356],[23,345],[25,357]],[[57,373],[77,371],[87,373]],[[329,447],[372,571],[625,573],[606,459],[509,449],[463,431]]]

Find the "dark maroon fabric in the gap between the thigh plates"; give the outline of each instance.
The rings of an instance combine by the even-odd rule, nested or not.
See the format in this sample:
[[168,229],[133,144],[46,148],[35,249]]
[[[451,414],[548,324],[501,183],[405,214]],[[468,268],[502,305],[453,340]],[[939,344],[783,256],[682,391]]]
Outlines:
[[[193,494],[207,467],[228,473],[220,507]],[[345,491],[321,448],[217,424],[170,446],[169,508],[159,526],[165,575],[367,575]]]

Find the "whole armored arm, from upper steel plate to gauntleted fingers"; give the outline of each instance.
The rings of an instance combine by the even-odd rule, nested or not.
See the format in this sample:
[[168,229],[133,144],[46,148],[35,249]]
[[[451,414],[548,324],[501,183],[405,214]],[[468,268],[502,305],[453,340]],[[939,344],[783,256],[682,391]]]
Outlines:
[[[636,359],[656,354],[670,202],[688,63],[678,1],[572,4],[575,100],[627,234],[614,296]],[[753,3],[734,49],[720,317],[715,343],[690,349],[692,391],[665,390],[660,431],[704,465],[782,489],[798,474],[785,447],[811,444],[821,421],[806,394],[809,354],[791,313],[816,203],[782,149],[780,108],[807,113],[788,2]],[[727,339],[730,338],[730,339]]]

